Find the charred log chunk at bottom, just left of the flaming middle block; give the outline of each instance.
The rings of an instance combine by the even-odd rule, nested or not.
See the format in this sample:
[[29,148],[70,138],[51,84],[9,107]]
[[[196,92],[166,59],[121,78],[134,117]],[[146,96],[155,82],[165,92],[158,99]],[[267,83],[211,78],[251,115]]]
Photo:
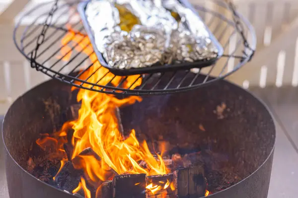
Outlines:
[[146,174],[115,176],[112,180],[113,198],[146,198]]

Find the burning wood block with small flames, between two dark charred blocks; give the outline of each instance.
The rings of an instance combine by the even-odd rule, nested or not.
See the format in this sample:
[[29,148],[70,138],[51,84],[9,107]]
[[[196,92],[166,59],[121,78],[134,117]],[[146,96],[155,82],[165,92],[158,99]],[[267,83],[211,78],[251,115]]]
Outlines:
[[[160,190],[154,192],[154,194],[148,190],[149,198],[172,198],[174,197],[174,191],[172,191],[170,184],[173,183],[173,174],[166,175],[152,175],[147,177],[147,184],[152,186],[160,186]],[[163,197],[162,197],[163,196]]]

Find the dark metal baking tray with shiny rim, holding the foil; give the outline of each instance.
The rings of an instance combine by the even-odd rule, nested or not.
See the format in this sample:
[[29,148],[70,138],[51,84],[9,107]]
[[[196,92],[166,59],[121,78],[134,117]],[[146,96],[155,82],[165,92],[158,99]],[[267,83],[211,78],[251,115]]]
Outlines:
[[[191,9],[193,12],[197,13],[197,11],[192,7],[192,5],[187,0],[179,0],[180,3],[182,3],[185,7]],[[83,23],[83,26],[85,28],[85,31],[89,37],[90,43],[93,47],[93,50],[98,58],[98,61],[102,66],[109,69],[113,74],[118,76],[128,76],[128,75],[135,75],[135,74],[147,74],[147,73],[158,73],[158,72],[167,72],[167,71],[176,71],[176,70],[188,70],[191,68],[203,68],[210,66],[214,64],[222,55],[223,55],[223,47],[220,45],[218,40],[215,38],[215,36],[212,34],[212,32],[209,30],[209,28],[205,25],[207,31],[210,34],[210,39],[212,40],[215,47],[218,49],[218,56],[216,58],[212,58],[209,60],[198,60],[195,62],[183,62],[183,63],[176,63],[176,64],[154,64],[151,67],[144,67],[144,68],[131,68],[131,69],[118,69],[113,68],[108,65],[105,58],[103,57],[102,53],[97,49],[95,45],[95,38],[93,35],[93,31],[91,27],[89,26],[89,23],[87,21],[87,17],[85,14],[85,9],[87,4],[90,2],[90,0],[82,1],[78,3],[77,10],[81,17],[81,21]],[[197,13],[199,16],[199,14]]]

